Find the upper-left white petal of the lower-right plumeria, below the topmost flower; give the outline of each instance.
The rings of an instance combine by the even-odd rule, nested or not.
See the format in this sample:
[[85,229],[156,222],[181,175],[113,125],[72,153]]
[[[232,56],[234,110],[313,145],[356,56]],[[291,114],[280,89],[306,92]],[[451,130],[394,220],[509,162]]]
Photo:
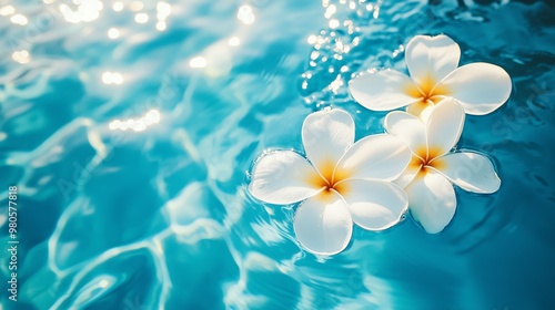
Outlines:
[[393,111],[385,116],[384,127],[387,133],[400,137],[413,154],[425,148],[426,125],[418,117],[406,112]]

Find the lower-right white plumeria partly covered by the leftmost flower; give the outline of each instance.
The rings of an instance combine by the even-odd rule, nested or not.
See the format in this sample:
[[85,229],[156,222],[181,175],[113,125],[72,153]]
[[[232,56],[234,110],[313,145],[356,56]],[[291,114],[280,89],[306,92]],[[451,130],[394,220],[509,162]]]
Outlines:
[[385,130],[402,138],[413,154],[395,183],[405,188],[413,218],[430,234],[443,230],[455,214],[451,183],[481,194],[495,193],[501,185],[492,162],[484,155],[450,153],[461,137],[464,118],[463,106],[453,99],[440,102],[425,123],[401,111],[385,117]]

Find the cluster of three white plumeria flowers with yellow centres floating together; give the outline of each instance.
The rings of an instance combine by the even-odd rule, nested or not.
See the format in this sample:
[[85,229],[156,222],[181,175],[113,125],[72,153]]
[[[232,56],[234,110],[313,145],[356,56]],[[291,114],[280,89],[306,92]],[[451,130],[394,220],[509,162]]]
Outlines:
[[427,232],[442,231],[455,214],[453,184],[481,194],[501,185],[490,158],[453,152],[465,114],[483,115],[503,105],[512,89],[500,66],[457,68],[461,50],[446,35],[413,38],[405,50],[411,78],[384,70],[354,78],[353,99],[385,116],[386,133],[354,140],[354,121],[334,108],[310,114],[302,126],[305,156],[293,151],[260,157],[250,193],[278,205],[301,202],[293,219],[310,252],[346,248],[353,223],[367,230],[397,224],[410,209]]

